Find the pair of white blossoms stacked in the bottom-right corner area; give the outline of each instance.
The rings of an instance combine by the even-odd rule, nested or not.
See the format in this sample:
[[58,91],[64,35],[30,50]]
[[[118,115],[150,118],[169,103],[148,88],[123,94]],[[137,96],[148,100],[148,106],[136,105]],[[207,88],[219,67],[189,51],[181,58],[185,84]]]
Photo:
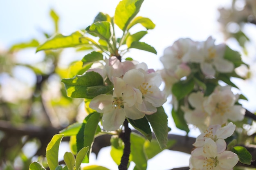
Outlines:
[[191,152],[190,170],[231,170],[238,163],[238,156],[226,150],[224,139],[234,133],[236,126],[230,122],[224,127],[212,125],[196,138]]

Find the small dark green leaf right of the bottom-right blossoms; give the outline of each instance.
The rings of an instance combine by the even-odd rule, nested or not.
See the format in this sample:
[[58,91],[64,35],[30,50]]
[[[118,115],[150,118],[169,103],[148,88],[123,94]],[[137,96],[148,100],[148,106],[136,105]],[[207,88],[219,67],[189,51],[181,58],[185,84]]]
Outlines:
[[252,155],[245,147],[235,146],[231,151],[236,153],[241,163],[251,165]]

